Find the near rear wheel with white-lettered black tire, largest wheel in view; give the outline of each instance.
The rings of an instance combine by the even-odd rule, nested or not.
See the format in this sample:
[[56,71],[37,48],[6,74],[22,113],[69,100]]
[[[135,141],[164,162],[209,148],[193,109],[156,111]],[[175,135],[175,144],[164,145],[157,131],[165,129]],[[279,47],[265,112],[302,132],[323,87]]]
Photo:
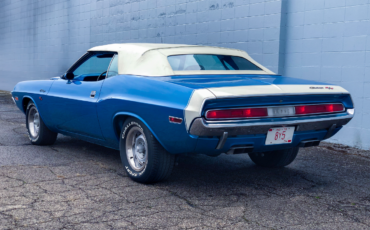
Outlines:
[[[144,138],[142,139],[146,141],[146,147],[142,148],[141,151],[145,152],[147,159],[146,163],[139,164],[136,169],[134,168],[136,165],[133,161],[135,161],[134,155],[137,151],[135,150],[134,153],[134,151],[130,149],[137,149],[139,144],[141,144],[141,146],[144,145],[142,143],[137,144],[137,141],[133,141],[135,138],[135,140],[138,140],[139,137],[142,137],[142,134],[135,136],[136,134],[133,134],[134,132],[141,132],[144,134]],[[132,144],[130,144],[130,142]],[[145,142],[143,141],[143,143]],[[128,152],[126,152],[126,145],[128,147]],[[142,154],[142,152],[140,153],[139,151],[139,154]],[[120,135],[120,154],[123,167],[128,176],[136,182],[145,184],[166,180],[171,175],[175,164],[175,155],[168,153],[153,136],[146,125],[135,118],[128,118],[122,126]],[[140,159],[145,159],[144,154],[139,157]],[[129,162],[129,158],[131,163]],[[138,159],[138,157],[136,157],[136,159]],[[143,168],[140,169],[140,167]]]

